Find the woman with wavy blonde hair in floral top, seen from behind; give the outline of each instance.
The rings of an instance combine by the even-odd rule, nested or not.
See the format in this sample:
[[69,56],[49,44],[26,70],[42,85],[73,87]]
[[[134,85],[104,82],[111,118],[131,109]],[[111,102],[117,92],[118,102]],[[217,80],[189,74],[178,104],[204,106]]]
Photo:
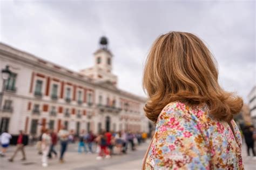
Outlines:
[[221,89],[214,58],[197,36],[169,32],[154,42],[143,86],[156,133],[143,169],[244,169],[233,120],[240,97]]

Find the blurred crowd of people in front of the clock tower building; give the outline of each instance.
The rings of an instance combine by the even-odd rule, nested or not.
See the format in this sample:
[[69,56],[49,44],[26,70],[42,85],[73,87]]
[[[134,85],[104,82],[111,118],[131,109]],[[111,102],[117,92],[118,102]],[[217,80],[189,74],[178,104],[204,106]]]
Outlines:
[[[10,145],[12,136],[6,131],[3,132],[0,137],[2,145],[1,156],[4,157],[6,149]],[[146,139],[147,133],[145,132],[106,132],[104,130],[100,130],[98,134],[94,134],[92,131],[86,132],[85,130],[82,130],[79,135],[76,135],[73,131],[69,132],[65,126],[62,126],[58,132],[43,129],[36,142],[36,148],[38,154],[42,156],[42,166],[48,167],[49,159],[52,159],[53,157],[58,158],[58,153],[55,149],[58,141],[60,146],[59,162],[63,163],[64,155],[69,143],[77,142],[78,153],[96,153],[96,159],[101,160],[103,158],[111,158],[112,155],[126,154],[127,149],[129,148],[131,148],[131,151],[135,151],[136,146],[145,142]],[[17,139],[15,140],[15,152],[8,160],[10,162],[14,161],[16,154],[21,151],[23,156],[22,160],[24,161],[26,160],[25,146],[29,143],[29,137],[20,131]]]

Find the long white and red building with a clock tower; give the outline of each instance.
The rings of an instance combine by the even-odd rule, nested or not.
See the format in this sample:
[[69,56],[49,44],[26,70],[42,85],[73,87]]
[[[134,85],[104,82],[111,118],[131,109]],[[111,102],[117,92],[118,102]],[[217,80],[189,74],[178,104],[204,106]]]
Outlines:
[[[106,44],[94,53],[95,65],[74,72],[0,43],[0,69],[9,66],[0,110],[0,130],[38,135],[61,125],[82,130],[149,132],[146,99],[118,89],[112,53]],[[0,79],[0,89],[3,79]]]

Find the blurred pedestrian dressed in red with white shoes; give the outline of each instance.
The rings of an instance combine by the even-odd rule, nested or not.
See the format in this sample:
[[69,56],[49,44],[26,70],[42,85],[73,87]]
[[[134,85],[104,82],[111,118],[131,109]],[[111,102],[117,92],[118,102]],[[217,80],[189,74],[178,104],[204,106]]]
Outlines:
[[104,156],[105,158],[110,158],[110,152],[107,149],[107,138],[104,131],[102,131],[102,133],[99,135],[98,140],[99,140],[100,152],[96,159],[101,160],[102,158],[104,158]]

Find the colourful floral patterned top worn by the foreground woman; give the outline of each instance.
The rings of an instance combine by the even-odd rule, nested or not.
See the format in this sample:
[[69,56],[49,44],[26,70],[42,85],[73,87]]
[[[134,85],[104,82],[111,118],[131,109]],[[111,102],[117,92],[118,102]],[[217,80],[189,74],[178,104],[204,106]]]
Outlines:
[[159,114],[145,169],[244,169],[241,134],[217,121],[208,106],[173,102]]

